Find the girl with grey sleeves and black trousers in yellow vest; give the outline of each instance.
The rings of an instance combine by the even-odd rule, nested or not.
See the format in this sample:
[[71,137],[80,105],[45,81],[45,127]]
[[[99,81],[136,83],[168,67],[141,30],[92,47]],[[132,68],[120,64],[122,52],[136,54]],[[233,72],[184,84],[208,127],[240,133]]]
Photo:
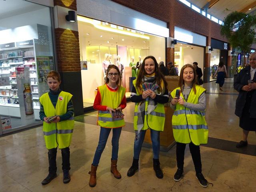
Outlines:
[[178,170],[174,181],[178,182],[183,177],[184,152],[189,144],[190,153],[196,170],[196,178],[202,187],[207,187],[208,182],[202,174],[200,144],[206,144],[208,139],[208,126],[205,121],[205,89],[198,85],[196,70],[186,64],[180,71],[178,88],[171,92],[172,128],[176,140],[176,160]]

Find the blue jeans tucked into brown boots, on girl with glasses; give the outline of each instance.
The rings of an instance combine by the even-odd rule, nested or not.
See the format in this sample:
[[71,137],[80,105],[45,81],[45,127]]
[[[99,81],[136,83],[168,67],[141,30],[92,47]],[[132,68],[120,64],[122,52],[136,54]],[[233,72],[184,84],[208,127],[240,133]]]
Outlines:
[[92,162],[93,166],[98,166],[100,162],[101,154],[106,146],[108,136],[110,134],[110,131],[113,130],[113,136],[112,136],[112,160],[117,160],[118,158],[118,148],[119,148],[119,138],[122,131],[122,127],[119,128],[104,128],[100,127],[100,139],[98,146],[96,148],[96,152],[94,154],[94,159]]

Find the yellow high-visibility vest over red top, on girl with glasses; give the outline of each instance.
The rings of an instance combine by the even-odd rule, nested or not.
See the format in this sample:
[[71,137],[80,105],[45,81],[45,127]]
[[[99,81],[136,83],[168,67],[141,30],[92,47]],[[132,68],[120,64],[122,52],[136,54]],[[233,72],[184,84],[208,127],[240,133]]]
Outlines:
[[[121,104],[126,89],[122,86],[118,88],[117,91],[112,91],[108,88],[106,84],[99,86],[98,90],[100,92],[101,103],[100,105],[108,106],[112,109],[118,108]],[[112,118],[112,114],[108,110],[98,111],[98,122],[97,124],[104,128],[118,128],[124,126],[124,118]]]

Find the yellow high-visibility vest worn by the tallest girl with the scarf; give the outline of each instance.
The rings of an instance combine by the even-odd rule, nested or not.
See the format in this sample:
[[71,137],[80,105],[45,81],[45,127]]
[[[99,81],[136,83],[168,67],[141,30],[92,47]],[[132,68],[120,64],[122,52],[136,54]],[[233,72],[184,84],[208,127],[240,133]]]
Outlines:
[[[136,80],[134,80],[133,85],[136,89],[137,95],[139,95],[139,91],[136,88]],[[144,126],[141,130],[147,130],[148,128],[156,130],[156,131],[164,131],[164,121],[165,121],[165,111],[164,111],[164,105],[158,103],[156,105],[156,108],[148,114],[148,101],[146,100],[145,105],[145,116],[144,116]],[[135,103],[135,110],[134,110],[134,120],[133,120],[133,126],[134,130],[138,130],[137,127],[137,121],[138,121],[138,107],[140,103]]]

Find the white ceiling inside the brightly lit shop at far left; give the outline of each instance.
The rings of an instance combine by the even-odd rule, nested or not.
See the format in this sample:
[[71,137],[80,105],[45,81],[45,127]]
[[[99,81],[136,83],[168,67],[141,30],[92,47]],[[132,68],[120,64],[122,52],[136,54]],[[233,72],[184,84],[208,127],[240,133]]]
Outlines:
[[25,0],[0,0],[0,19],[20,15],[42,8],[45,8],[45,6]]

